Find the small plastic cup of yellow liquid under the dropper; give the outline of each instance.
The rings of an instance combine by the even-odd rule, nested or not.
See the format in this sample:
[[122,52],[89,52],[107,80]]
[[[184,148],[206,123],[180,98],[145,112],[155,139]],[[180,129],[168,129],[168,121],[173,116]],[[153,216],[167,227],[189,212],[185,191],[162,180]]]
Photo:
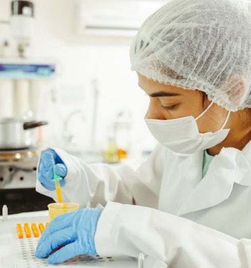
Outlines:
[[73,202],[51,203],[48,205],[48,208],[49,208],[49,221],[51,221],[59,215],[78,210],[79,204]]

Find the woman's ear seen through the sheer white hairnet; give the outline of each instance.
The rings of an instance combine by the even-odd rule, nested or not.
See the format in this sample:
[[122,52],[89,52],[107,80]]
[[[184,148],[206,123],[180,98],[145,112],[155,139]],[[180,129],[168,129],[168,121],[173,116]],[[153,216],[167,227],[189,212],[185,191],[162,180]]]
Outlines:
[[233,74],[229,77],[225,85],[225,92],[230,103],[240,106],[246,96],[246,79],[239,74]]

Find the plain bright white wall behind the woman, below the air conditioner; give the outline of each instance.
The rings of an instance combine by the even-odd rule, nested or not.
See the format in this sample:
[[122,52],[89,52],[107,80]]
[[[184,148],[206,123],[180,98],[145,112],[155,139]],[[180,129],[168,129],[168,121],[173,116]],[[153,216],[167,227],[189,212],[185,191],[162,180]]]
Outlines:
[[[130,70],[128,37],[79,36],[74,33],[74,0],[36,0],[36,33],[31,54],[52,57],[59,62],[60,73],[53,87],[46,89],[43,119],[46,145],[64,147],[62,122],[67,115],[80,108],[71,121],[72,132],[79,138],[79,148],[87,148],[92,123],[93,79],[100,90],[97,141],[102,147],[107,129],[115,115],[122,110],[132,112],[134,147],[152,148],[154,141],[144,125],[148,98],[137,86],[136,73]],[[8,20],[10,1],[1,0],[0,21]],[[0,24],[0,41],[11,40],[8,26]],[[14,46],[14,41],[11,42]],[[53,98],[56,103],[53,102]],[[80,142],[82,141],[82,142]]]

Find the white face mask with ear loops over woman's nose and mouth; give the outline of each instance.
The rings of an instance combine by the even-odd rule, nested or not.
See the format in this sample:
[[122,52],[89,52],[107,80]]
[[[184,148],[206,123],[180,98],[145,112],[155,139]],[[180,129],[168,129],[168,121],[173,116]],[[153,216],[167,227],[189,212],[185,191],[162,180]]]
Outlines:
[[197,118],[189,116],[170,120],[145,119],[145,123],[154,138],[165,147],[181,154],[193,154],[195,151],[205,150],[221,143],[230,130],[223,129],[229,118],[230,111],[228,111],[220,130],[214,133],[199,132],[196,120],[202,117],[212,105],[213,102]]

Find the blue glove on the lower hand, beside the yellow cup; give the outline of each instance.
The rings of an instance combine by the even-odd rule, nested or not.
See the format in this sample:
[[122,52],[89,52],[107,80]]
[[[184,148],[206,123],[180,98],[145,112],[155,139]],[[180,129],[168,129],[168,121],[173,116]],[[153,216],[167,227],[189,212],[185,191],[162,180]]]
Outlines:
[[97,255],[94,236],[102,208],[85,208],[60,215],[53,219],[41,236],[35,256],[45,258],[51,254],[48,263],[55,264],[78,255]]

